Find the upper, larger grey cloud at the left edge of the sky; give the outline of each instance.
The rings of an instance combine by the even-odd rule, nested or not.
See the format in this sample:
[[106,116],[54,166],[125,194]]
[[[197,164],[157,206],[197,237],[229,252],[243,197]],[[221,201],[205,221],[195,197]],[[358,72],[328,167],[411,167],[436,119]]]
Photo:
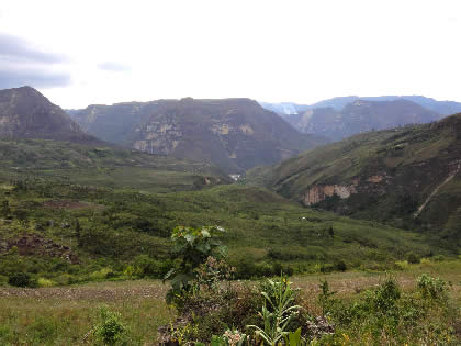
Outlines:
[[60,64],[68,62],[63,54],[43,52],[27,41],[14,35],[0,33],[0,57],[10,62],[32,62]]

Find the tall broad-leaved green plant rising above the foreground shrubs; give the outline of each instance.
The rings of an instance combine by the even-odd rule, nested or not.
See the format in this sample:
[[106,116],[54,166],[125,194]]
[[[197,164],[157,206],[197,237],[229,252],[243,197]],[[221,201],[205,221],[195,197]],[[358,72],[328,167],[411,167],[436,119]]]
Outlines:
[[165,276],[171,280],[171,289],[167,301],[173,302],[184,292],[192,289],[192,280],[196,278],[196,269],[209,257],[222,258],[227,254],[227,248],[221,244],[221,236],[225,230],[220,226],[184,227],[178,226],[172,231],[173,255],[180,260],[179,266],[172,268]]

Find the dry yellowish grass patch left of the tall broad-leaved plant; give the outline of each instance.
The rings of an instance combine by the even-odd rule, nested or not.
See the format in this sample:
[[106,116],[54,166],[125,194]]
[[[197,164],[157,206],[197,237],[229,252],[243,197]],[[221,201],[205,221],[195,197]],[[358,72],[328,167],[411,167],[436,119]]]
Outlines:
[[98,282],[68,288],[0,288],[2,345],[93,344],[91,330],[102,305],[120,312],[131,344],[155,345],[157,328],[175,313],[159,281]]

